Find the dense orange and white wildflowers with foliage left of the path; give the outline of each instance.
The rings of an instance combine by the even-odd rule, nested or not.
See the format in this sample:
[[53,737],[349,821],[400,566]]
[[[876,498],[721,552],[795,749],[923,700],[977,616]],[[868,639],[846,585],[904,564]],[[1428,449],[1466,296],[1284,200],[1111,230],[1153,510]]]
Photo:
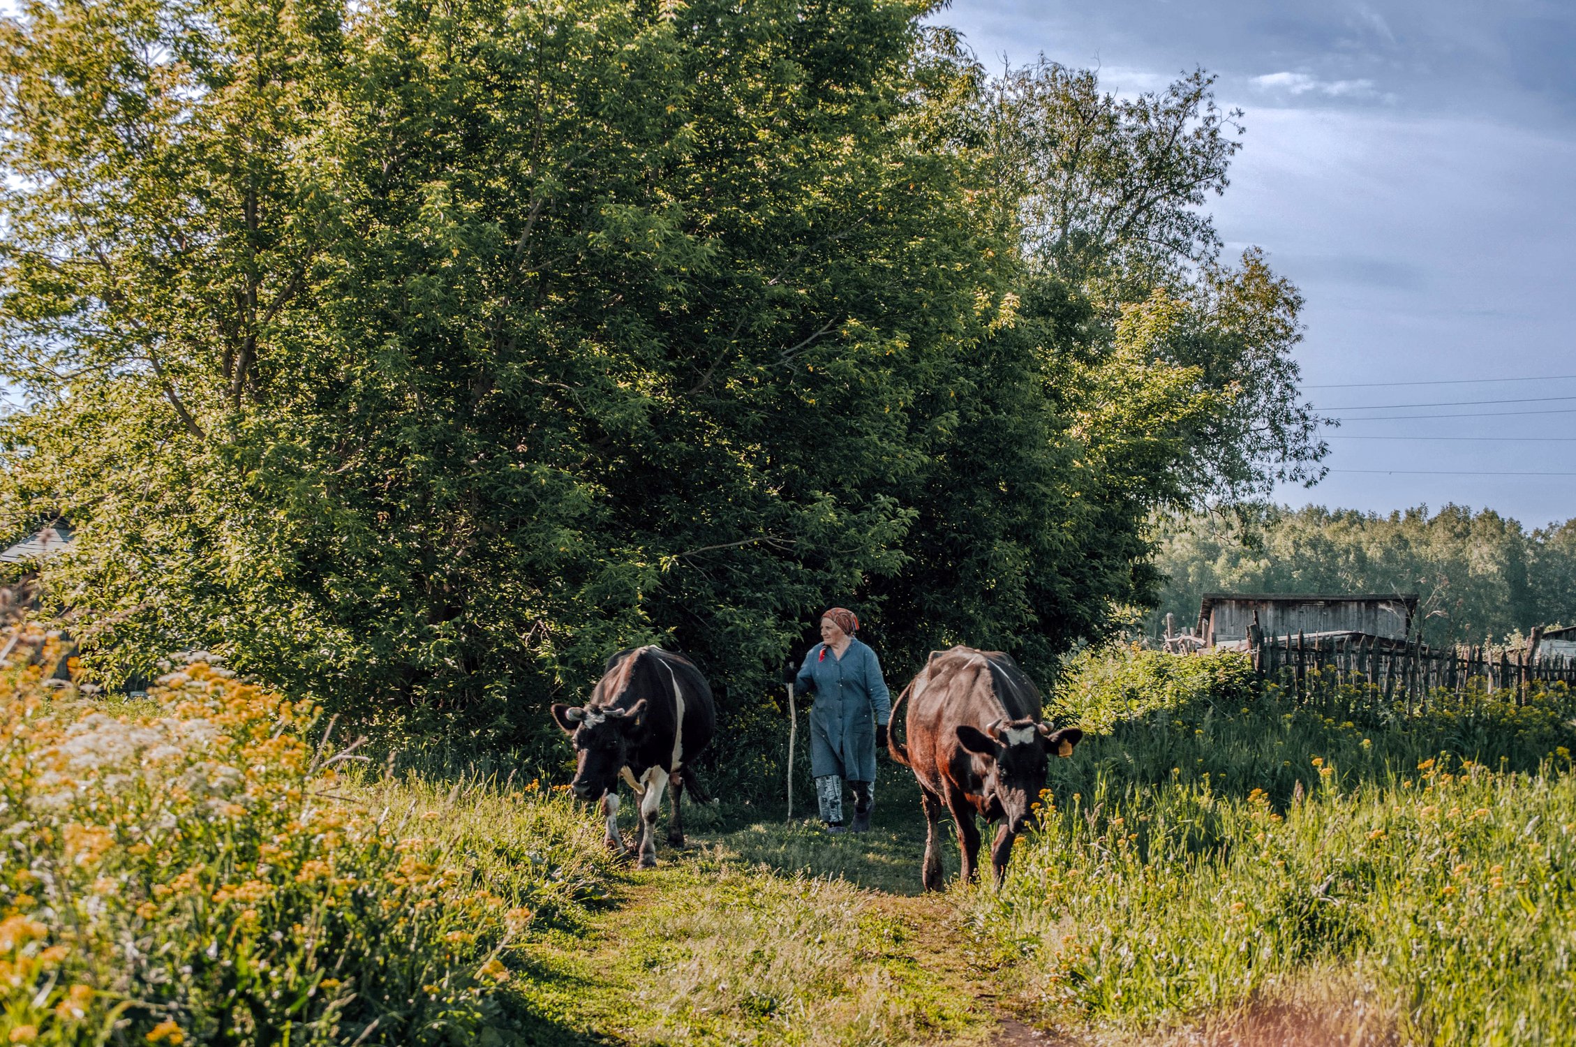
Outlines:
[[8,1042],[506,1042],[511,940],[605,892],[567,799],[358,785],[208,664],[120,716],[43,691],[0,675]]

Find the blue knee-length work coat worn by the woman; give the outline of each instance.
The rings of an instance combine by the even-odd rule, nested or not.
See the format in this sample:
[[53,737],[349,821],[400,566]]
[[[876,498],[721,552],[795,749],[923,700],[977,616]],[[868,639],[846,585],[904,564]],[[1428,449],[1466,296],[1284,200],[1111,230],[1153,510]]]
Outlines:
[[[821,658],[826,651],[826,658]],[[804,656],[794,684],[815,691],[810,706],[810,773],[851,782],[876,781],[876,724],[892,716],[892,695],[881,680],[876,653],[857,639],[842,658],[824,643]]]

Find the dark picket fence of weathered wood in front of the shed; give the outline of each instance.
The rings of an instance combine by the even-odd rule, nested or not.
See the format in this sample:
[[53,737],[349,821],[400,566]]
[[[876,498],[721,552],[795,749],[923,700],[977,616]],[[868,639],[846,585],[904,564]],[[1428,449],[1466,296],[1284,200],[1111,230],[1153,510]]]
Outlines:
[[[1521,703],[1535,683],[1576,686],[1576,659],[1535,658],[1530,648],[1453,646],[1436,650],[1422,640],[1359,640],[1254,635],[1253,667],[1302,700],[1344,695],[1362,705],[1404,710],[1426,705],[1439,691],[1477,691]],[[1399,706],[1399,708],[1398,708]]]

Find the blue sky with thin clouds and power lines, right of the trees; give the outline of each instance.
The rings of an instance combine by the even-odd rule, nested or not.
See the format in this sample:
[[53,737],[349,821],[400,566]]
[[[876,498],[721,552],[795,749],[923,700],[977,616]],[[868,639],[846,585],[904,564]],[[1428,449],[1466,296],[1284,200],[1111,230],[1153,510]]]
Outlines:
[[[1302,289],[1308,397],[1351,419],[1330,476],[1280,500],[1576,516],[1576,3],[957,0],[933,20],[990,68],[1045,54],[1119,93],[1202,66],[1247,112],[1215,224]],[[1447,380],[1477,382],[1398,385]]]

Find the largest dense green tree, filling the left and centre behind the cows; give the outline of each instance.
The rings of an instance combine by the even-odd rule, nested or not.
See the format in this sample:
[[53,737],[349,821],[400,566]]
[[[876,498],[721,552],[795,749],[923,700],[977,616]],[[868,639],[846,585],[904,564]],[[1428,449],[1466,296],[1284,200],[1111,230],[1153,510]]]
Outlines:
[[90,662],[503,741],[898,571],[991,282],[906,123],[922,6],[28,6],[5,508],[77,524]]

